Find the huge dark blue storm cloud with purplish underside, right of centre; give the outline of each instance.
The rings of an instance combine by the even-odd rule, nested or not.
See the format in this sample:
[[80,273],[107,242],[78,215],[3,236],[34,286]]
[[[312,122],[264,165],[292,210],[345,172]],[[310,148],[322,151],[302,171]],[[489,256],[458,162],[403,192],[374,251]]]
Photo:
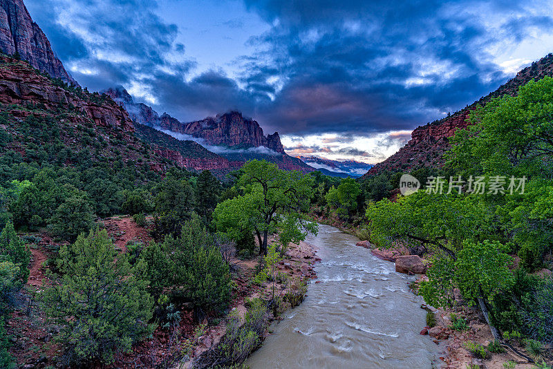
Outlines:
[[[246,3],[276,24],[252,39],[269,46],[258,59],[288,77],[261,116],[292,133],[373,133],[442,117],[505,81],[488,48],[552,28],[549,17],[517,14],[523,1]],[[465,11],[478,6],[504,17],[495,33],[485,14]],[[256,70],[256,61],[247,64]]]

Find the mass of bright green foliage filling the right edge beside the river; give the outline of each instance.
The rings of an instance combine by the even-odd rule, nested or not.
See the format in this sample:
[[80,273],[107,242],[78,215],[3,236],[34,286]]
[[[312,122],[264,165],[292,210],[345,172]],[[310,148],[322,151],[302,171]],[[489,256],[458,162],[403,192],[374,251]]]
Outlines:
[[[458,288],[469,303],[489,308],[500,330],[547,343],[552,281],[527,273],[552,267],[552,106],[550,77],[491,100],[474,111],[474,124],[456,133],[447,153],[441,173],[449,173],[450,184],[465,178],[460,189],[449,191],[446,182],[442,194],[419,191],[366,210],[373,242],[431,255],[429,281],[420,287],[427,302],[451,305]],[[502,186],[471,191],[478,178]]]

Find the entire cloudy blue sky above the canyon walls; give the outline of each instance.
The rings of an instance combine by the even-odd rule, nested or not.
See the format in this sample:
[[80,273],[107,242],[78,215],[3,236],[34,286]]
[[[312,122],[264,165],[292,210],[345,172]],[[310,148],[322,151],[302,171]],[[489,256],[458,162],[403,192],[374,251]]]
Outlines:
[[551,1],[26,0],[83,86],[238,109],[292,155],[379,162],[553,51]]

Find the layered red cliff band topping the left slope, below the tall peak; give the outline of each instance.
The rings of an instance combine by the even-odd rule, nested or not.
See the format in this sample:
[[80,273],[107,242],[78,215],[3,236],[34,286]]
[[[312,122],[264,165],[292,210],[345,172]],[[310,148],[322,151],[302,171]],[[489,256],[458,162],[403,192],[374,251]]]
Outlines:
[[[8,65],[6,65],[8,64]],[[100,126],[119,127],[134,131],[133,122],[124,108],[100,94],[82,94],[55,86],[50,79],[37,75],[26,64],[12,64],[12,59],[0,56],[0,102],[3,104],[41,104],[46,109],[72,106],[76,115],[84,115]],[[75,117],[77,119],[77,117]]]

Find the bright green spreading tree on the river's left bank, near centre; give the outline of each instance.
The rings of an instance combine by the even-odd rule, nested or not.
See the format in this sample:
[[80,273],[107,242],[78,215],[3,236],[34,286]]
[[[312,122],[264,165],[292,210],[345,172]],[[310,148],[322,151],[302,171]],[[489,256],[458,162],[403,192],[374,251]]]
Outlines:
[[314,192],[312,176],[283,171],[265,160],[252,160],[242,168],[236,186],[243,195],[221,202],[214,211],[217,230],[235,237],[239,233],[236,228],[253,229],[259,254],[267,253],[268,237],[275,232],[288,227],[304,229],[292,240],[299,242],[307,231],[317,231],[316,223],[305,215]]

